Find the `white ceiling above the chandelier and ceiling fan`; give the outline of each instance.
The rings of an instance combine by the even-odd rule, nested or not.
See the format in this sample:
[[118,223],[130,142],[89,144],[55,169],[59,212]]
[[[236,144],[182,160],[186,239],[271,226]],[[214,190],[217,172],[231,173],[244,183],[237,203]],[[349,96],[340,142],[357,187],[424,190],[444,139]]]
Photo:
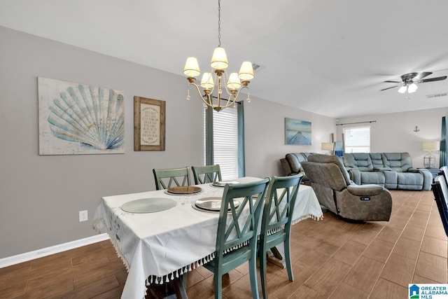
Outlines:
[[[0,26],[183,76],[218,46],[217,0],[0,0]],[[230,71],[260,64],[251,95],[343,118],[448,106],[448,80],[411,99],[386,80],[448,75],[446,0],[222,0]]]

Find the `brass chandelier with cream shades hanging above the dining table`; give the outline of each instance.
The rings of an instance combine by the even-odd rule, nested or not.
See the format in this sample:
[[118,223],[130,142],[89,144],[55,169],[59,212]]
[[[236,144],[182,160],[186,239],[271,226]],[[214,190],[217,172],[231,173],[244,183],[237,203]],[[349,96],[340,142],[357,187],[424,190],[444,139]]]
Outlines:
[[[243,62],[239,73],[231,73],[230,76],[228,76],[226,71],[228,66],[227,55],[225,55],[224,48],[221,47],[221,0],[218,0],[218,48],[215,48],[211,57],[211,71],[202,74],[200,86],[203,92],[201,92],[200,86],[195,83],[196,77],[201,74],[197,59],[188,57],[183,68],[183,74],[187,76],[189,82],[188,87],[190,85],[195,86],[206,108],[211,107],[216,111],[220,111],[232,106],[232,104],[235,106],[239,92],[244,88],[247,89],[247,102],[251,102],[248,84],[253,78],[252,63],[248,61]],[[213,95],[215,89],[217,90],[216,96]],[[227,92],[228,99],[221,98],[224,90]],[[187,99],[190,99],[190,89],[187,92]],[[223,102],[226,101],[225,104],[221,100]]]

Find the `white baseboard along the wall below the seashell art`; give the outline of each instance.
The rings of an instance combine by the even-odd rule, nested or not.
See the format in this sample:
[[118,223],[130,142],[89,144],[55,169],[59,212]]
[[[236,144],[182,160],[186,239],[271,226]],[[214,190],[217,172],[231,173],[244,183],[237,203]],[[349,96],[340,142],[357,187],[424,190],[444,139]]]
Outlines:
[[92,237],[86,237],[84,239],[77,239],[75,241],[58,244],[55,246],[50,246],[35,251],[21,253],[18,254],[17,256],[8,256],[7,258],[0,258],[0,268],[27,262],[28,260],[34,260],[35,258],[43,258],[43,256],[50,256],[51,254],[67,251],[70,249],[75,249],[80,246],[102,242],[106,239],[109,239],[109,235],[107,234],[94,235]]

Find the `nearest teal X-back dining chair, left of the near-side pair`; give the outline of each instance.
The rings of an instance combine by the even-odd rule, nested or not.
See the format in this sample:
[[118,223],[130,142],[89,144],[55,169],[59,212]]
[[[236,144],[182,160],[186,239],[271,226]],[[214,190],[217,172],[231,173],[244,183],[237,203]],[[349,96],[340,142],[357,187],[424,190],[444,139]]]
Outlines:
[[[260,216],[270,179],[226,184],[216,235],[215,257],[205,263],[214,272],[215,298],[223,298],[223,275],[248,261],[252,298],[259,298],[257,283],[257,239]],[[234,199],[239,198],[235,207]]]

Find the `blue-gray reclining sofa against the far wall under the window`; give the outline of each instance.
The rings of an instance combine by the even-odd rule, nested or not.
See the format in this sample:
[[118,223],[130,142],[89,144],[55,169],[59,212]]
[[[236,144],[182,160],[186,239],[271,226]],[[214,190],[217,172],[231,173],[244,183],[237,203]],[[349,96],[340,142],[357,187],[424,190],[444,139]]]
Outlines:
[[433,176],[412,167],[409,153],[344,153],[344,166],[358,184],[377,184],[388,189],[430,190]]

